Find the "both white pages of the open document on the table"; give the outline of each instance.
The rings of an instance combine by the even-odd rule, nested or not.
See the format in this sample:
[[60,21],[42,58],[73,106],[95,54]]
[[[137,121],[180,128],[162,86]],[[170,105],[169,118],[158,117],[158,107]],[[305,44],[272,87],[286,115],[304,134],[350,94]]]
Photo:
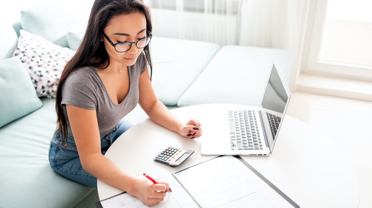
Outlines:
[[[151,208],[299,207],[290,204],[270,182],[264,182],[262,176],[250,168],[234,156],[220,156],[161,178],[169,183],[173,193],[167,193],[162,202]],[[103,200],[101,205],[103,208],[148,208],[128,193]]]

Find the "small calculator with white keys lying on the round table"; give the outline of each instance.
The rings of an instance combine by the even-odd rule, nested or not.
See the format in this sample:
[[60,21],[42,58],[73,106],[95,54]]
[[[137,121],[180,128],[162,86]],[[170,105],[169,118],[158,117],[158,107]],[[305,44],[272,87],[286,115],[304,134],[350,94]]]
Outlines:
[[193,150],[185,150],[169,146],[154,157],[154,161],[165,163],[171,167],[177,167],[194,153]]

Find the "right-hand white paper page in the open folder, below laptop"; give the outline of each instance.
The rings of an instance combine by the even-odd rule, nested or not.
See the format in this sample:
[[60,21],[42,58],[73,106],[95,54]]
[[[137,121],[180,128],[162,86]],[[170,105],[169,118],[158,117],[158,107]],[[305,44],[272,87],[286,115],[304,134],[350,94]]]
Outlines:
[[212,159],[175,176],[202,208],[293,208],[233,156]]

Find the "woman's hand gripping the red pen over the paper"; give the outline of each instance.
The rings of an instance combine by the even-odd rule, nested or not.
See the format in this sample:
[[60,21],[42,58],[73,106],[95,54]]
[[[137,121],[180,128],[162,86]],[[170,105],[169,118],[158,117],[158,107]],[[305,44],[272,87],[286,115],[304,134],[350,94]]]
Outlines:
[[167,182],[158,181],[154,184],[147,179],[137,179],[133,192],[129,193],[136,196],[147,206],[153,206],[164,200],[167,192],[170,192]]

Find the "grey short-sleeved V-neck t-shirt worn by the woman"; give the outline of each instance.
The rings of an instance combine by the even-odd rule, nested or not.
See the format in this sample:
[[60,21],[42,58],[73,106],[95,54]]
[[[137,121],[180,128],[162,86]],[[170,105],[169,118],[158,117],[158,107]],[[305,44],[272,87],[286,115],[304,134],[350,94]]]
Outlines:
[[128,66],[129,91],[124,101],[115,104],[94,67],[82,67],[68,75],[62,87],[62,107],[67,121],[68,136],[73,138],[66,112],[66,104],[96,110],[100,137],[110,133],[119,121],[138,103],[138,80],[147,68],[145,55],[141,53],[137,61]]

